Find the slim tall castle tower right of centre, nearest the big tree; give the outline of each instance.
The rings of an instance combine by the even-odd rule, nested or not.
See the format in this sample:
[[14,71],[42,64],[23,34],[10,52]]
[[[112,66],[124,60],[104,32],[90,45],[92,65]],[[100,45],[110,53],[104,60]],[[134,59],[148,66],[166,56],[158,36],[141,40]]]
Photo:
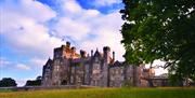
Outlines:
[[101,83],[101,86],[103,87],[107,87],[108,86],[108,66],[109,66],[109,62],[110,62],[110,48],[108,46],[105,46],[103,48],[103,69],[102,69],[102,83]]

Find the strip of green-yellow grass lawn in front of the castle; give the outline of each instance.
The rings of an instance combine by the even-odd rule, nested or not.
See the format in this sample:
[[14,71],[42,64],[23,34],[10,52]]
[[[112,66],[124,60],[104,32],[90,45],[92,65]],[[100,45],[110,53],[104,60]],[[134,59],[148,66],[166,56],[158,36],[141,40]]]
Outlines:
[[0,98],[195,98],[195,88],[89,88],[0,93]]

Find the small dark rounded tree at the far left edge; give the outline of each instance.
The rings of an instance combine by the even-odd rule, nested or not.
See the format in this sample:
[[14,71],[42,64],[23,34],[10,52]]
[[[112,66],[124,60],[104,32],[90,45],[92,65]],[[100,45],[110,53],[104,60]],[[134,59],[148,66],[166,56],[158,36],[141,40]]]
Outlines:
[[0,81],[0,87],[10,87],[10,86],[16,86],[17,84],[15,83],[15,81],[11,78],[3,78]]

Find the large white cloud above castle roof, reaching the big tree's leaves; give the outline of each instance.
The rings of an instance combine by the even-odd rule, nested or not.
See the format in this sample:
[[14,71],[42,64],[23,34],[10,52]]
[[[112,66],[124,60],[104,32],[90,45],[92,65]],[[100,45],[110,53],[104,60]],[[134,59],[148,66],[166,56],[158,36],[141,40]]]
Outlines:
[[[62,6],[66,5],[78,8],[78,3],[74,0],[62,3]],[[81,6],[77,13],[64,11],[65,14],[53,26],[55,36],[69,37],[79,45],[77,47],[88,53],[96,47],[102,51],[103,46],[108,45],[116,52],[116,59],[123,60],[125,50],[120,44],[122,38],[119,32],[122,19],[118,11],[102,14],[98,10],[84,10]]]

